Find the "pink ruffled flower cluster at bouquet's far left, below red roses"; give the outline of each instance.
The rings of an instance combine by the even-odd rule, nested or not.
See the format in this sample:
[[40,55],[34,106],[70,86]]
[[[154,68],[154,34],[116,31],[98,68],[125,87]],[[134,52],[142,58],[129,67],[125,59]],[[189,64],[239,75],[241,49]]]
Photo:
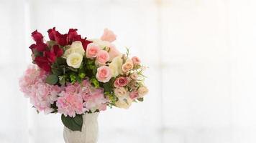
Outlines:
[[24,76],[19,79],[19,86],[30,102],[39,111],[46,114],[53,111],[50,107],[58,98],[60,87],[45,83],[47,73],[37,66],[29,66]]

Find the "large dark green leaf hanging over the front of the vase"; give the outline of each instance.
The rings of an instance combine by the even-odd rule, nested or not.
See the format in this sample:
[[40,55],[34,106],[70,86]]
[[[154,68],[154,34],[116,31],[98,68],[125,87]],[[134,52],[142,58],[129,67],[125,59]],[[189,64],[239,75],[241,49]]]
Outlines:
[[64,126],[71,131],[82,131],[83,116],[81,114],[76,114],[76,117],[65,117],[64,114],[62,114],[61,121],[63,122]]

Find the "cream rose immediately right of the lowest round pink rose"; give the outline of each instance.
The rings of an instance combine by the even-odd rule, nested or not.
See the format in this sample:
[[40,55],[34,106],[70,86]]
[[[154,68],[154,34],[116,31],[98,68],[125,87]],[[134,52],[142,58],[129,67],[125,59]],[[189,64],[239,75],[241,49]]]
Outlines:
[[109,64],[109,68],[111,69],[111,73],[113,77],[116,77],[119,74],[122,74],[122,69],[121,69],[122,63],[123,63],[123,59],[122,59],[122,55],[120,55],[120,56],[116,56]]

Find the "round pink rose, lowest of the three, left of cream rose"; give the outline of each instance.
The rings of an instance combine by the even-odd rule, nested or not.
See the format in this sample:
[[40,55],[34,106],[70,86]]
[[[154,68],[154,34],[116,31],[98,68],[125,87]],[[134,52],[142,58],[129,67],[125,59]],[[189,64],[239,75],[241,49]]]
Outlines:
[[96,78],[98,79],[99,82],[109,82],[109,80],[111,79],[111,70],[109,69],[109,66],[100,66],[97,69],[97,74],[96,74]]

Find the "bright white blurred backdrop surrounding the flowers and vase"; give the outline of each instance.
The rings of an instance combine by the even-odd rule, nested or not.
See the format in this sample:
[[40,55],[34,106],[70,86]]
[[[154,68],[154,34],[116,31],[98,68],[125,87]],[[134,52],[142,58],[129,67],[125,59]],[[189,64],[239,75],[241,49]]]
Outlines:
[[35,29],[104,28],[150,66],[145,102],[99,117],[99,143],[255,143],[255,0],[0,0],[0,142],[60,143],[19,92]]

